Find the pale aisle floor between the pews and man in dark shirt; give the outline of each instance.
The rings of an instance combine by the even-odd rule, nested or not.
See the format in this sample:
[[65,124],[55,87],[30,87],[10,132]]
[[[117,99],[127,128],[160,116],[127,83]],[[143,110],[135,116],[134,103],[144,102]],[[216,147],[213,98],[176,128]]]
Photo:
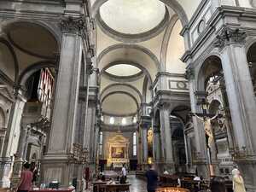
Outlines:
[[128,175],[128,182],[131,183],[131,192],[147,192],[147,183],[135,175]]

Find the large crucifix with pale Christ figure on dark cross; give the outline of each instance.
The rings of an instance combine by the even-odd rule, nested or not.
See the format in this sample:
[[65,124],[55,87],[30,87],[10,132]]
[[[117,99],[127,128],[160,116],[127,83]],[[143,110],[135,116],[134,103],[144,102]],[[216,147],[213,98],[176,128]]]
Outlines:
[[[198,92],[196,92],[195,94],[198,96]],[[206,97],[207,94],[204,92],[202,95]],[[212,171],[212,157],[211,157],[211,148],[213,143],[213,132],[212,132],[211,121],[213,119],[221,118],[222,114],[207,113],[208,102],[205,97],[201,98],[201,100],[197,102],[198,105],[201,105],[202,113],[190,113],[190,115],[195,116],[197,119],[200,119],[204,125],[204,131],[207,136],[207,159],[208,159],[208,164],[210,166],[210,174],[214,175]]]

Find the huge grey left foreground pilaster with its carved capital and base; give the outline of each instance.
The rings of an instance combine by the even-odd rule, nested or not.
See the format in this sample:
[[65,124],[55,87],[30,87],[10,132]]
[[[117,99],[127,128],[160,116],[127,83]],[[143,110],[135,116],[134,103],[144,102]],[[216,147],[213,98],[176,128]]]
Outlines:
[[79,36],[84,20],[71,17],[61,21],[62,43],[55,88],[55,104],[49,134],[49,147],[43,160],[44,183],[57,180],[68,186],[73,180],[74,130],[79,101],[82,39]]

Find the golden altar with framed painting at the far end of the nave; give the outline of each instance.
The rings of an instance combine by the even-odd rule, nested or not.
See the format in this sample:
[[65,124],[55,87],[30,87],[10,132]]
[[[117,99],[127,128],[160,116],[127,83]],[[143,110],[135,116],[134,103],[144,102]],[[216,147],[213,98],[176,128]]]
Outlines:
[[121,132],[118,132],[108,141],[108,161],[107,166],[113,168],[122,167],[129,164],[129,139],[125,138]]

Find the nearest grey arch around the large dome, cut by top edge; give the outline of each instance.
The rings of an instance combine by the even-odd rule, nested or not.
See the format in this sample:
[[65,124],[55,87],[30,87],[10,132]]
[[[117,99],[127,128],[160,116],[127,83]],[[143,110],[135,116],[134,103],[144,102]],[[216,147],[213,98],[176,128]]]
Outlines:
[[[108,0],[96,0],[92,6],[92,15],[96,17],[98,9],[102,6],[103,3],[106,3]],[[178,15],[179,19],[182,21],[183,26],[186,26],[189,23],[188,15],[186,15],[183,7],[177,0],[160,0],[162,3],[165,3],[167,6],[172,8]]]

